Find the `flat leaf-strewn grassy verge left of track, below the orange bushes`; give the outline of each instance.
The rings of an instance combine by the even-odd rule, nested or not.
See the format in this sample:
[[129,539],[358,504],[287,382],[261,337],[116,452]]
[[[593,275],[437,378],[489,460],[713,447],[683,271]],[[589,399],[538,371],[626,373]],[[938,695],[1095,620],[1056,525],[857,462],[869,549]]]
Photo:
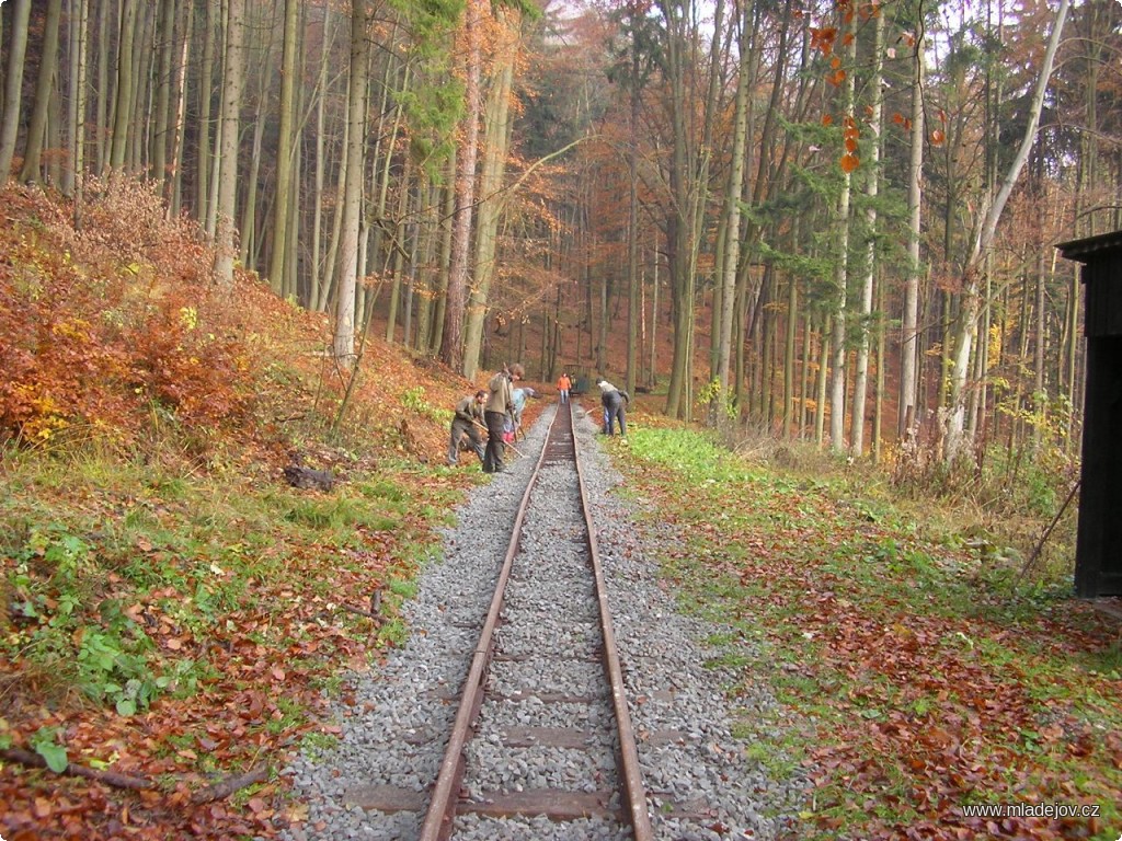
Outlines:
[[[398,606],[463,487],[405,462],[328,495],[15,451],[2,479],[0,749],[156,780],[127,807],[138,832],[182,829],[201,786],[330,738],[319,718],[341,668],[404,639]],[[376,592],[379,621],[350,609],[369,613]],[[6,833],[98,808],[84,780],[20,774]],[[247,788],[206,820],[228,837],[268,830],[272,791]]]

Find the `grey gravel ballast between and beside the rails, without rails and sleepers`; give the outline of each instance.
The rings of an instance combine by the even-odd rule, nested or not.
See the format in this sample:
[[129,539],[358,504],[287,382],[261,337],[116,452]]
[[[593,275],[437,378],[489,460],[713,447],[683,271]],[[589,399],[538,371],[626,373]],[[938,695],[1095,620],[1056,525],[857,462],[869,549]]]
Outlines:
[[[419,576],[417,594],[404,608],[411,628],[408,643],[369,673],[348,678],[350,703],[335,708],[341,729],[338,746],[306,751],[283,771],[292,778],[294,797],[305,802],[309,810],[306,822],[286,830],[284,838],[405,841],[417,837],[427,792],[436,778],[457,713],[456,695],[467,674],[517,507],[553,413],[554,407],[546,407],[518,444],[525,458],[511,462],[507,472],[473,490],[457,509],[457,525],[442,535],[442,558],[430,563]],[[730,706],[724,687],[734,676],[707,665],[718,651],[705,640],[720,628],[675,612],[672,594],[659,586],[653,561],[656,547],[644,545],[637,536],[631,515],[633,503],[613,493],[623,479],[600,447],[594,420],[598,414],[598,407],[586,414],[574,406],[573,432],[581,452],[585,489],[609,591],[655,838],[693,841],[794,837],[792,812],[801,798],[803,782],[770,779],[758,764],[746,758],[746,746],[730,733],[734,718],[744,717],[745,710],[756,715],[769,713],[774,702],[758,691],[747,697],[742,694],[737,699],[739,710]],[[563,519],[560,507],[572,506],[563,490],[536,496],[545,500],[555,497],[559,520]],[[535,508],[537,516],[543,515]],[[657,539],[673,539],[673,535],[666,530]],[[541,554],[540,567],[546,571],[534,576],[535,581],[545,582],[545,588],[565,586],[558,561],[558,553],[565,549],[563,545],[559,548],[557,537],[524,543],[525,553]],[[548,571],[554,561],[559,572],[551,575]],[[518,626],[516,634],[508,635],[503,640],[507,655],[518,658],[536,648],[555,648],[559,641],[574,651],[588,645],[595,632],[591,613],[550,619],[548,606],[555,597],[548,589],[537,591],[537,584],[530,586],[519,581],[517,573],[512,575],[511,586],[511,600],[504,610],[534,610],[543,619],[532,622],[528,629]],[[540,635],[539,641],[534,635]],[[533,668],[522,659],[496,664],[495,668],[502,671],[493,674],[493,685],[509,681],[504,688],[511,692],[527,680],[542,686],[550,686],[551,680],[564,683],[557,675],[519,675],[519,669]],[[597,676],[589,674],[587,681]],[[571,686],[552,688],[573,691]],[[544,706],[549,709],[535,709],[532,700],[505,703],[495,705],[486,717],[500,724],[526,727],[542,726],[543,714],[573,712],[558,709],[563,704]],[[606,714],[597,706],[574,712],[586,719]],[[537,746],[500,751],[494,741],[484,738],[469,743],[467,750],[470,761],[481,764],[499,785],[506,782],[517,787],[530,780],[531,786],[579,788],[582,776],[606,771],[599,768],[606,761],[604,746],[591,754]],[[394,788],[404,807],[370,808],[374,803],[385,805],[387,787]],[[553,823],[546,819],[463,815],[457,820],[453,837],[460,841],[579,841],[629,835],[596,819]]]

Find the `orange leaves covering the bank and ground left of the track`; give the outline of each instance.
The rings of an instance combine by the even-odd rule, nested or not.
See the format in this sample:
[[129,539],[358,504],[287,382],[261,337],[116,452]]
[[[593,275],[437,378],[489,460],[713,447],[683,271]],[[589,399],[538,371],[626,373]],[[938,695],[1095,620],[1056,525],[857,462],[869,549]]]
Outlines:
[[[445,503],[469,483],[467,470],[384,474],[377,462],[383,453],[399,462],[403,420],[410,452],[419,461],[442,461],[447,422],[416,404],[451,407],[475,383],[435,363],[415,364],[371,338],[338,431],[349,446],[319,440],[314,433],[321,424],[327,427],[324,418],[333,417],[333,400],[347,386],[333,360],[311,352],[324,346],[327,320],[247,276],[237,278],[232,290],[214,287],[213,255],[187,223],[164,220],[158,196],[146,188],[126,184],[114,192],[91,185],[90,195],[82,231],[73,229],[71,209],[61,200],[18,186],[0,195],[6,210],[0,216],[0,358],[6,363],[0,440],[50,441],[80,425],[112,431],[116,441],[136,443],[145,454],[175,460],[182,450],[187,464],[175,461],[168,472],[180,475],[176,471],[187,466],[188,483],[199,478],[224,493],[256,495],[263,484],[266,492],[275,491],[282,464],[293,458],[293,427],[284,424],[306,418],[298,455],[356,486],[385,478],[411,498]],[[412,403],[407,391],[414,392]],[[183,440],[162,446],[173,429],[184,432]],[[197,466],[205,462],[199,456],[206,455],[200,451],[210,445],[222,447],[223,459],[240,470],[200,477]],[[163,786],[127,792],[7,763],[0,766],[0,802],[7,804],[0,834],[9,841],[48,833],[141,841],[276,837],[285,820],[274,804],[280,784],[247,792],[245,803],[195,806],[192,794],[215,776],[263,763],[282,766],[301,733],[324,712],[323,678],[369,668],[386,643],[368,619],[340,607],[339,594],[348,594],[352,607],[367,608],[365,600],[387,577],[406,575],[408,570],[395,565],[405,563],[403,546],[412,549],[432,538],[429,515],[422,507],[393,510],[386,517],[392,525],[357,525],[343,548],[314,529],[288,532],[240,520],[231,529],[238,535],[181,540],[191,535],[184,520],[197,511],[162,497],[157,487],[76,482],[44,488],[35,502],[36,510],[49,502],[63,512],[58,519],[83,535],[90,521],[104,521],[116,534],[123,517],[142,508],[150,528],[145,525],[131,536],[131,528],[121,528],[119,542],[102,539],[100,529],[98,539],[91,538],[88,551],[96,569],[89,571],[86,584],[98,598],[86,609],[89,621],[74,631],[73,645],[100,627],[93,616],[99,602],[114,604],[120,623],[135,623],[130,632],[144,639],[151,674],[172,677],[174,684],[128,718],[77,692],[55,697],[56,706],[46,710],[40,709],[42,690],[56,676],[33,673],[27,663],[0,655],[0,673],[15,678],[4,686],[0,723],[15,747],[27,749],[33,734],[46,728],[57,733],[71,763]],[[257,539],[266,535],[268,540]],[[256,554],[252,563],[261,572],[239,579],[243,586],[222,586],[237,574],[223,540],[231,548],[236,544],[247,564]],[[128,565],[174,583],[138,586],[125,572]],[[330,593],[323,581],[331,582]],[[53,590],[48,595],[58,599]],[[213,600],[206,610],[185,607],[206,600]],[[384,614],[394,617],[395,610],[394,600],[383,602]],[[286,814],[298,817],[300,810]]]

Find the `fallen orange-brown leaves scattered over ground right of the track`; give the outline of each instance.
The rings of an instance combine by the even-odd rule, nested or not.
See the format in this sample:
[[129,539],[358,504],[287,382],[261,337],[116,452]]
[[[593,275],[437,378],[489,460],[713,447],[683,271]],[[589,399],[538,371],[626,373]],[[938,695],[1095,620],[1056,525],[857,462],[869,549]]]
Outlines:
[[[765,482],[719,486],[710,493],[650,465],[643,475],[644,484],[657,484],[656,492],[644,487],[644,495],[664,497],[671,508],[690,512],[691,534],[699,524],[719,532],[723,511],[730,507],[767,512],[758,535],[738,524],[736,572],[752,592],[764,593],[761,603],[787,618],[764,622],[761,631],[782,650],[807,646],[806,657],[783,665],[801,678],[788,691],[797,697],[806,693],[809,705],[828,704],[836,713],[808,757],[816,812],[824,815],[819,829],[840,826],[843,821],[828,816],[837,813],[849,815],[849,830],[853,816],[864,815],[857,833],[879,841],[994,833],[1058,841],[1102,829],[1045,817],[1005,817],[991,825],[990,819],[966,817],[960,806],[1104,804],[1116,796],[1116,786],[1101,774],[1088,773],[1074,784],[1070,764],[1065,769],[1061,763],[1085,757],[1088,769],[1122,770],[1122,737],[1104,733],[1101,722],[1087,715],[1093,706],[1073,701],[1085,690],[1116,697],[1122,684],[1101,675],[1065,677],[1040,663],[1069,659],[1073,650],[1109,648],[1116,628],[1100,622],[1093,632],[1080,630],[1078,606],[1023,627],[984,613],[925,610],[908,592],[908,566],[901,564],[925,547],[854,518],[825,495],[778,493]],[[715,539],[710,533],[701,543],[724,546],[732,534]],[[879,553],[884,546],[893,547],[894,561]],[[680,553],[690,557],[690,546]],[[714,553],[715,573],[727,572],[721,569],[726,557]],[[898,577],[899,591],[882,586]],[[751,601],[728,607],[745,622],[758,619]],[[1065,684],[1075,680],[1078,685]]]

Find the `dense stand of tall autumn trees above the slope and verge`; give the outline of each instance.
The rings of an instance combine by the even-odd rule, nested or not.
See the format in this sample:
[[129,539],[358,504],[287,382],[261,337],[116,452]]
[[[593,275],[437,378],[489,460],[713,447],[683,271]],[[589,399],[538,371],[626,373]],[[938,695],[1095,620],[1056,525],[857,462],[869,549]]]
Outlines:
[[1120,225],[1120,18],[11,0],[0,172],[154,182],[219,283],[328,313],[339,359],[376,324],[468,378],[611,369],[671,417],[853,458],[1072,454],[1079,286],[1052,246]]

